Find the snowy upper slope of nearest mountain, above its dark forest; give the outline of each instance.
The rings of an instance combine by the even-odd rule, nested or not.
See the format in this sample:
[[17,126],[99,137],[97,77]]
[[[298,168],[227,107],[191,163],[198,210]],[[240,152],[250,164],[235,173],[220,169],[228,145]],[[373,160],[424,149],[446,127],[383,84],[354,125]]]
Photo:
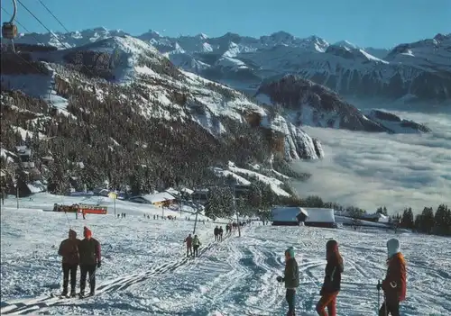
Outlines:
[[[5,54],[2,62],[6,64],[7,61],[9,67],[2,67],[2,85],[48,99],[52,104],[57,101],[63,104],[64,101],[55,92],[55,86],[60,91],[67,91],[74,79],[82,83],[87,93],[98,98],[111,93],[109,83],[125,87],[133,85],[133,102],[148,118],[170,122],[190,120],[215,137],[227,134],[226,121],[253,125],[265,133],[272,131],[273,122],[262,106],[234,89],[175,68],[152,45],[131,36],[112,37],[69,50],[42,51],[32,47],[26,50],[29,51],[27,58],[45,60],[39,64],[42,71],[23,65],[23,61],[14,55]],[[24,73],[23,68],[28,73]],[[105,80],[97,78],[98,84],[87,82],[85,76],[93,75]],[[117,97],[127,100],[125,95]],[[283,118],[279,120],[284,121]],[[287,154],[285,158],[321,157],[318,140],[312,140],[290,122],[285,125],[286,128],[274,131],[283,133],[285,140],[279,150]],[[285,150],[284,143],[299,146]]]

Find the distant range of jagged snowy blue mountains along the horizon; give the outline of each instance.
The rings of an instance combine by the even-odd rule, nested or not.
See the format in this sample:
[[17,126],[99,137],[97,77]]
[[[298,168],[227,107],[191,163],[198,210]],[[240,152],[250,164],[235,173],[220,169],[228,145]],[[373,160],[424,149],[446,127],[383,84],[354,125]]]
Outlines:
[[[22,34],[16,42],[65,49],[125,34],[96,28],[56,33],[58,40],[50,33]],[[434,103],[451,99],[451,33],[391,50],[361,48],[348,41],[329,44],[317,36],[300,39],[287,32],[257,39],[230,32],[216,38],[205,34],[171,38],[150,31],[136,38],[154,46],[179,68],[252,94],[262,82],[291,74],[327,86],[345,98]]]

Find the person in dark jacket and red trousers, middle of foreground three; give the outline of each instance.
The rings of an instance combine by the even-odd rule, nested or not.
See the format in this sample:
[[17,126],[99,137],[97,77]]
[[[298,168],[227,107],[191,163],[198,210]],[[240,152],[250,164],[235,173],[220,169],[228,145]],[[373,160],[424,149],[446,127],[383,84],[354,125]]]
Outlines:
[[317,312],[320,316],[336,316],[336,295],[340,291],[341,274],[343,273],[343,258],[338,251],[336,240],[329,240],[326,243],[326,275],[324,276],[323,287],[321,288],[321,298],[317,303]]

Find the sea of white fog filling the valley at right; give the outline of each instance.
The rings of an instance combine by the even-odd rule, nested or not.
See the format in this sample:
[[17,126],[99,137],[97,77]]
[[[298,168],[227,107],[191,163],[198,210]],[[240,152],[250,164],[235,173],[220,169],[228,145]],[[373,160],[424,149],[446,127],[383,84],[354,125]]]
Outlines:
[[321,140],[326,158],[293,166],[313,176],[293,185],[299,195],[389,212],[451,205],[451,114],[394,112],[432,129],[423,135],[365,133],[305,127]]

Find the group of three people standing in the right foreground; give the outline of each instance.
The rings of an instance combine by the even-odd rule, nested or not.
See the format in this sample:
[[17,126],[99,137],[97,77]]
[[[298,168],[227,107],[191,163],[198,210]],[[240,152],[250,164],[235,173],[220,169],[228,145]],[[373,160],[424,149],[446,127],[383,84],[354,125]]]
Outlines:
[[[400,302],[406,299],[406,261],[400,252],[400,241],[387,241],[387,274],[382,283],[377,284],[377,290],[382,289],[384,301],[379,310],[379,316],[399,316]],[[341,274],[344,271],[343,258],[338,251],[338,243],[331,239],[326,244],[327,266],[324,283],[321,287],[321,298],[317,303],[320,316],[336,316],[336,297],[340,292]],[[284,276],[278,276],[277,281],[285,284],[285,298],[289,311],[287,316],[295,316],[296,289],[299,287],[299,266],[292,247],[285,250]],[[327,311],[326,311],[327,309]]]

